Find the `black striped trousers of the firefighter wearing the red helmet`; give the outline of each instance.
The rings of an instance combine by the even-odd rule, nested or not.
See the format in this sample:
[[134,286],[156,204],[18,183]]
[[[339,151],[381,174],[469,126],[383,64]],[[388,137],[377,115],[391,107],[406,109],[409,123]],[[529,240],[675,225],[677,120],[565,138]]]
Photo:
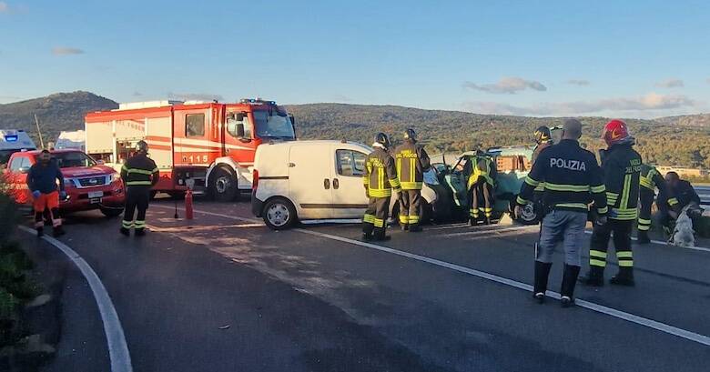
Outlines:
[[631,231],[634,220],[609,219],[604,226],[594,226],[591,246],[589,248],[589,266],[606,267],[606,251],[609,249],[609,240],[614,234],[614,249],[619,268],[634,267],[634,253],[631,250]]

